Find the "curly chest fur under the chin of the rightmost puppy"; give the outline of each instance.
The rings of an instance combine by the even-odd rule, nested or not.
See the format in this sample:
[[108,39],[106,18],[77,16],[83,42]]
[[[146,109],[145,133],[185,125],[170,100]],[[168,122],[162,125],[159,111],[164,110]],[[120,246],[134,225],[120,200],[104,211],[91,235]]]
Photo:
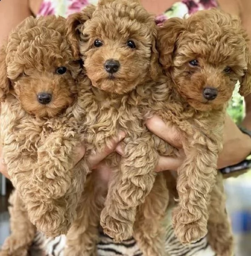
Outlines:
[[165,101],[151,102],[147,115],[157,114],[164,122],[175,126],[186,141],[193,140],[200,134],[221,147],[226,106],[211,111],[197,111],[180,97],[170,93]]

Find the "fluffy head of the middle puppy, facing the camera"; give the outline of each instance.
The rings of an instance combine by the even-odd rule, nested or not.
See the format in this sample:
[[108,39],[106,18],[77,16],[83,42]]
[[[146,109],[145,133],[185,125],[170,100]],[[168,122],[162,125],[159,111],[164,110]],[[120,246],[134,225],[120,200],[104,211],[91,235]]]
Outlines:
[[100,0],[68,23],[93,86],[123,94],[157,76],[157,27],[137,0]]

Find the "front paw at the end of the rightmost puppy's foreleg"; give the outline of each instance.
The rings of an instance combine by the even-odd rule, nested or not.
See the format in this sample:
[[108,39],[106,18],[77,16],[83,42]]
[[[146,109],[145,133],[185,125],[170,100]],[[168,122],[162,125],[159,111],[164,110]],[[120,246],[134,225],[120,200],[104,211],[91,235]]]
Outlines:
[[199,241],[207,234],[207,221],[203,218],[193,221],[194,215],[177,207],[173,212],[174,233],[183,244]]

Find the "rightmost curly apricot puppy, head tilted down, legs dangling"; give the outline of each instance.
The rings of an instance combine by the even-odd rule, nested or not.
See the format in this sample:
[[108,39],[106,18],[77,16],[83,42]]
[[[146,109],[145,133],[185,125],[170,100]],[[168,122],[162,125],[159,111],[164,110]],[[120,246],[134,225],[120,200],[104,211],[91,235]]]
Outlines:
[[228,100],[238,80],[241,95],[251,93],[247,34],[240,20],[213,9],[167,20],[157,45],[171,96],[165,106],[153,108],[184,135],[186,154],[178,170],[175,233],[184,243],[197,241],[206,235],[208,223],[214,250],[232,255],[222,179],[214,184]]

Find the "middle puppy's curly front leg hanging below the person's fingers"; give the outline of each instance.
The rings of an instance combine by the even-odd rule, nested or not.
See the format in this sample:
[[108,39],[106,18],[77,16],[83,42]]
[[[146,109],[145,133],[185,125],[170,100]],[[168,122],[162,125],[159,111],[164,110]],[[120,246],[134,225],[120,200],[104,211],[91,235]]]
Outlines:
[[120,171],[109,186],[106,206],[101,213],[104,232],[115,241],[132,236],[136,208],[153,187],[158,160],[150,134],[127,139],[125,143]]

